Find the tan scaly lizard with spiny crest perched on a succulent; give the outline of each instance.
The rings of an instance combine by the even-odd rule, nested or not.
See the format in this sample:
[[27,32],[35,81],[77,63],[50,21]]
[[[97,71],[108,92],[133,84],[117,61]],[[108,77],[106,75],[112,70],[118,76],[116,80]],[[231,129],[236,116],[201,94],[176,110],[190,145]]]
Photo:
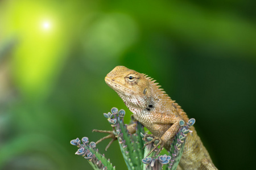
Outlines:
[[[171,100],[170,96],[151,77],[127,69],[125,66],[116,66],[106,75],[105,82],[117,92],[126,107],[133,112],[135,120],[151,131],[152,134],[146,134],[145,137],[153,137],[154,140],[151,142],[159,140],[159,143],[151,150],[151,152],[157,150],[154,156],[157,156],[163,147],[169,150],[171,139],[180,128],[179,121],[188,122],[189,120],[183,109]],[[129,127],[130,131],[135,131],[134,125]],[[191,130],[193,133],[188,134],[178,169],[217,169],[193,126]],[[94,131],[108,133],[101,130]],[[100,139],[97,143],[106,138],[113,138],[112,142],[114,141],[114,135],[110,133],[108,137]]]

